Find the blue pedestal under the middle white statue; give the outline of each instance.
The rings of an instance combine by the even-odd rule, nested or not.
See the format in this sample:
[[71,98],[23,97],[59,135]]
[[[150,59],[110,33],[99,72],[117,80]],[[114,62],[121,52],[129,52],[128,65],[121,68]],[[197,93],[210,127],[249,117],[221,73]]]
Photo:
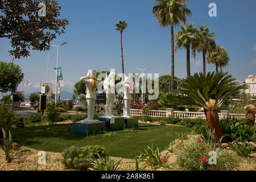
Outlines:
[[101,117],[96,119],[106,123],[106,131],[122,130],[125,127],[125,119],[122,117],[112,119]]

